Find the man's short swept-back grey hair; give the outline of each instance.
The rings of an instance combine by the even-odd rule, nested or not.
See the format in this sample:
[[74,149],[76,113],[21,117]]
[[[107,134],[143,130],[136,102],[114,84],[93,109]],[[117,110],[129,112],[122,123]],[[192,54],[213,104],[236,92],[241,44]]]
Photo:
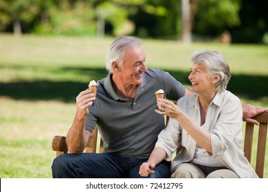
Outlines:
[[124,50],[127,47],[141,46],[142,42],[134,36],[121,36],[111,43],[106,55],[106,69],[113,73],[113,62],[118,62],[123,66]]

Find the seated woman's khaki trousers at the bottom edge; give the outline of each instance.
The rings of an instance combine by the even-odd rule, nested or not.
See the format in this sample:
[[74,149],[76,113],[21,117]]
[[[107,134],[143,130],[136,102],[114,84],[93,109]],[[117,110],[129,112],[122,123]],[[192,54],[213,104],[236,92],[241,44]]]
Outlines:
[[227,167],[207,167],[193,163],[181,163],[174,167],[171,178],[239,178]]

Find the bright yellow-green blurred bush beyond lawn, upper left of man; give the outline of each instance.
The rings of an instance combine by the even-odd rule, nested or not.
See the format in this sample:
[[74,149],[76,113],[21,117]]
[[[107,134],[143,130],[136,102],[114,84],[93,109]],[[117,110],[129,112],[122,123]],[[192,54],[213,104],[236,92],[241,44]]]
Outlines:
[[47,9],[47,16],[36,26],[37,34],[94,35],[95,11],[84,1],[60,1],[59,6]]

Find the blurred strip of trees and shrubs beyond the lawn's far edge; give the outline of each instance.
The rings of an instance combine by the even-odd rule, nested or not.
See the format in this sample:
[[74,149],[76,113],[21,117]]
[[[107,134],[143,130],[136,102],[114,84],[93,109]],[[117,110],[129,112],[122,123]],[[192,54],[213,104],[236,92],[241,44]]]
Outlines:
[[267,44],[267,7],[262,0],[1,0],[0,31]]

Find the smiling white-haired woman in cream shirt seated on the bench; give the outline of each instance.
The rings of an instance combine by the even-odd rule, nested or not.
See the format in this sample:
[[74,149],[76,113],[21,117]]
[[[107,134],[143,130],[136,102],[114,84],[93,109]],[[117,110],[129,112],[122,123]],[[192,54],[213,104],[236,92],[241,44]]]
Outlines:
[[171,178],[258,178],[243,155],[241,101],[226,90],[230,69],[216,51],[194,52],[188,79],[194,94],[177,105],[157,99],[159,115],[170,117],[161,131],[141,176],[150,176],[161,160],[170,160],[179,145],[183,148],[171,164]]

